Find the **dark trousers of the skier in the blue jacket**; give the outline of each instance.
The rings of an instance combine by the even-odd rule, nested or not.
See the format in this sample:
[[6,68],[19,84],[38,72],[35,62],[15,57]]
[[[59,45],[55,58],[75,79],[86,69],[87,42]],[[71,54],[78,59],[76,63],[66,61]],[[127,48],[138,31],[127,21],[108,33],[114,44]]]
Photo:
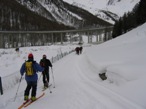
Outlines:
[[29,96],[30,89],[32,89],[31,96],[36,96],[37,81],[27,81],[27,87],[25,89],[24,96]]

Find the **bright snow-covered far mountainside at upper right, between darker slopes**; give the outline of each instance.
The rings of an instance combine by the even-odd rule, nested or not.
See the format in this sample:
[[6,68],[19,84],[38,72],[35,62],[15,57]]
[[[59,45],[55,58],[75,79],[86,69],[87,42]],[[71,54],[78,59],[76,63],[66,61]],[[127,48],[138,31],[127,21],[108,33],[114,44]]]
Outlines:
[[[140,0],[63,0],[88,10],[99,18],[114,23],[125,12],[131,11]],[[109,12],[110,16],[106,13]],[[113,18],[114,20],[113,20]]]

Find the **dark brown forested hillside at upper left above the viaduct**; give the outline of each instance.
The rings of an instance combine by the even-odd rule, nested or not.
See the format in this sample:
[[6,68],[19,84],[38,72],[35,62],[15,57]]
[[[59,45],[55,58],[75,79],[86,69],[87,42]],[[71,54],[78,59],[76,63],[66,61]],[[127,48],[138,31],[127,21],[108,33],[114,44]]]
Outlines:
[[64,30],[71,27],[50,21],[15,0],[0,0],[0,30]]

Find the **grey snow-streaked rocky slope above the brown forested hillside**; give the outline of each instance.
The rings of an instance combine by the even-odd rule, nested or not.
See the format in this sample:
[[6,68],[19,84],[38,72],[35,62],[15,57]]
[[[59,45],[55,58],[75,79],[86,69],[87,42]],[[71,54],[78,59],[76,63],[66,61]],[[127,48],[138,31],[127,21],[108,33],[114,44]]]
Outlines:
[[71,27],[79,27],[80,18],[72,12],[63,8],[61,1],[47,0],[17,0],[22,5],[26,6],[31,11],[60,24],[65,24]]

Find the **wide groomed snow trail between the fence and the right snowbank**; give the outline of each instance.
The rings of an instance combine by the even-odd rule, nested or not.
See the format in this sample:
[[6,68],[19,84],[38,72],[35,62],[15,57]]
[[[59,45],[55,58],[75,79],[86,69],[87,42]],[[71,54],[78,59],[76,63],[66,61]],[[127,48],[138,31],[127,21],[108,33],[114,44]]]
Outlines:
[[[52,73],[55,88],[53,88]],[[49,89],[45,90],[44,97],[25,109],[142,109],[102,85],[103,81],[98,77],[97,69],[88,60],[86,51],[81,55],[72,53],[54,63],[53,72],[50,69],[50,81],[52,93]],[[8,107],[21,105],[25,80],[21,83],[23,84],[24,87],[21,86],[16,103],[8,103]],[[40,79],[37,95],[43,93],[42,86]]]

